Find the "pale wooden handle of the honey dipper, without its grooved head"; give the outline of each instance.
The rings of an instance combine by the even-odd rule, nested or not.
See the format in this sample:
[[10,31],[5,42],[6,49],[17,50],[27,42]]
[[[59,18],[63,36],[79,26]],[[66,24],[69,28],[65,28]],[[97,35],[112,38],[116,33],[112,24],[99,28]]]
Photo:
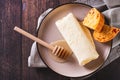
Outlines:
[[15,26],[14,30],[17,31],[17,32],[19,32],[20,34],[22,34],[22,35],[24,35],[24,36],[32,39],[33,41],[38,42],[39,44],[43,45],[44,47],[49,48],[50,50],[53,50],[53,48],[54,48],[53,46],[49,45],[48,43],[44,42],[43,40],[41,40],[41,39],[33,36],[32,34],[26,32],[26,31],[24,31],[22,29],[20,29],[17,26]]

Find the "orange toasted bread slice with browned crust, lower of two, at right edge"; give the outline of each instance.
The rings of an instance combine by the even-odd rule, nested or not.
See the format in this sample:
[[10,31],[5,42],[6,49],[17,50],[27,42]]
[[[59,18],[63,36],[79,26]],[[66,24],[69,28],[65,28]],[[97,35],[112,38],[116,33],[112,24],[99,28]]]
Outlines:
[[104,25],[101,32],[97,32],[97,31],[93,32],[93,37],[95,40],[99,42],[108,42],[112,40],[119,32],[120,29],[116,27]]

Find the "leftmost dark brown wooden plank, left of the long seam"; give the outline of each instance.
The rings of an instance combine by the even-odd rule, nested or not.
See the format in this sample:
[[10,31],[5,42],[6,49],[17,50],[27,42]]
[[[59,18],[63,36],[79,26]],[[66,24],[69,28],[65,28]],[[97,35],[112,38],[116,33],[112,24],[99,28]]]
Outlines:
[[21,25],[21,1],[0,1],[0,80],[21,80],[21,36],[15,25]]

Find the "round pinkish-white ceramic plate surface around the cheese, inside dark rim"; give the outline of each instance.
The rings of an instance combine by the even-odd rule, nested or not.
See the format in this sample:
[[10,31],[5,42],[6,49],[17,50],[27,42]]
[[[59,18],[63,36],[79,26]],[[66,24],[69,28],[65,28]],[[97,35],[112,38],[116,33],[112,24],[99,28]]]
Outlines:
[[[85,4],[65,4],[55,8],[42,21],[38,30],[38,37],[48,43],[63,39],[56,28],[55,21],[69,12],[72,12],[78,20],[82,21],[90,9],[91,7]],[[68,77],[83,77],[99,69],[109,55],[111,42],[103,44],[95,41],[95,45],[100,57],[84,67],[78,64],[74,54],[67,62],[58,63],[50,57],[48,49],[38,45],[38,51],[45,64],[53,71]]]

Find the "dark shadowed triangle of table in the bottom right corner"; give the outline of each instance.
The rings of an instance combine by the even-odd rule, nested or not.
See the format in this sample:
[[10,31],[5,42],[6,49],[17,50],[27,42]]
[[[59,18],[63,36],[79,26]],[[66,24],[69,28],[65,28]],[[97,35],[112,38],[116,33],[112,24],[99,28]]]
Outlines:
[[85,80],[120,80],[120,57]]

